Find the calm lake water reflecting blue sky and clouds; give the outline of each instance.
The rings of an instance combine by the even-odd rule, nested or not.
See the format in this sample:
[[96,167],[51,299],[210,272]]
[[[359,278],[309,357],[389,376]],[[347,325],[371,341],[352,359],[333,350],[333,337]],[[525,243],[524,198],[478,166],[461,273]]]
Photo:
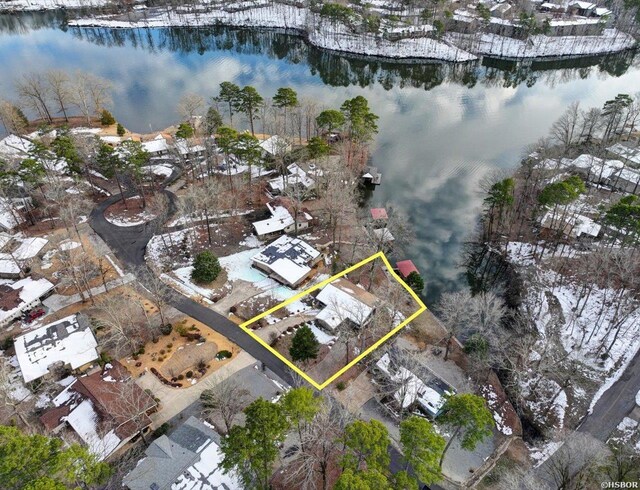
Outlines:
[[[174,123],[185,92],[208,98],[231,80],[264,96],[290,86],[327,107],[363,95],[380,116],[374,205],[402,208],[416,229],[407,256],[427,302],[464,285],[460,249],[477,222],[484,176],[518,165],[574,101],[601,106],[640,90],[640,57],[559,62],[395,64],[318,51],[283,33],[237,29],[72,29],[60,16],[0,16],[0,94],[22,73],[81,68],[112,80],[113,112],[147,132]],[[398,257],[399,259],[405,257]]]

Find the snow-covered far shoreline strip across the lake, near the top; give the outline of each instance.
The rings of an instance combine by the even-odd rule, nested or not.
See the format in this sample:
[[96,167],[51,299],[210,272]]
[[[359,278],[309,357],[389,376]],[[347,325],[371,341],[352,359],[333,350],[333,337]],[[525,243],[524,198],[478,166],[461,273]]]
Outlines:
[[[86,5],[78,7],[84,0],[57,1],[68,3],[67,8],[61,9],[67,12],[79,12],[81,8],[88,8]],[[106,4],[107,0],[94,0],[90,2],[89,8]],[[3,5],[6,6],[7,3],[0,2],[0,8]],[[53,10],[46,3],[41,5],[41,9]],[[578,59],[621,53],[637,47],[633,37],[616,29],[604,29],[597,36],[532,35],[526,40],[490,33],[447,32],[439,39],[425,34],[391,41],[381,35],[350,32],[344,25],[330,22],[305,7],[287,4],[256,6],[245,2],[235,5],[244,8],[229,11],[211,7],[172,10],[145,7],[128,13],[70,19],[67,25],[75,28],[111,29],[217,26],[276,29],[299,36],[318,49],[408,63],[464,63],[484,57],[508,61]],[[32,8],[31,11],[33,10],[35,9]],[[19,6],[13,9],[15,13],[20,11]]]

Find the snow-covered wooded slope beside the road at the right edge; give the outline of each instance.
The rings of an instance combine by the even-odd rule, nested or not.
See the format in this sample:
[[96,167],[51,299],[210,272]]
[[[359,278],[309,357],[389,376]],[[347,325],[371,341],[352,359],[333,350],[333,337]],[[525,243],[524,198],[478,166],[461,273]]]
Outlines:
[[[508,246],[509,261],[519,266],[529,278],[524,302],[540,334],[536,348],[542,351],[548,345],[547,340],[551,340],[597,383],[598,388],[590,400],[591,410],[640,350],[640,303],[630,293],[595,284],[588,285],[590,293],[587,294],[584,284],[570,277],[560,277],[551,270],[547,265],[552,259],[551,252],[546,251],[540,259],[542,245],[534,258],[535,248],[518,242]],[[556,254],[556,258],[576,257],[583,253],[586,252],[566,247]],[[534,356],[539,359],[538,353]],[[527,384],[531,382],[535,381],[529,380]],[[528,386],[523,389],[526,396]],[[584,398],[584,390],[578,385],[574,384],[572,390],[574,397]],[[565,390],[556,381],[545,378],[534,395],[529,402],[534,417],[555,415],[558,428],[562,427],[568,408]]]

